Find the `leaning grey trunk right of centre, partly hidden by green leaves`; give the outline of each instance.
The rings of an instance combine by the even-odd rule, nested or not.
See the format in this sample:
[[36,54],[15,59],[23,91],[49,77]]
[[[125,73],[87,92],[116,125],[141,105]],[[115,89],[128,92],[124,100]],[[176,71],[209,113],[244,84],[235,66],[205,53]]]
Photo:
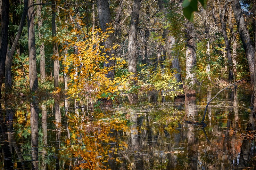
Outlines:
[[[168,14],[166,9],[166,4],[164,4],[163,0],[158,0],[158,6],[160,8],[160,11],[166,16]],[[167,20],[166,17],[163,17],[163,22]],[[167,30],[166,38],[165,38],[165,45],[166,45],[166,55],[168,58],[172,59],[172,68],[176,69],[177,73],[174,75],[177,82],[181,82],[181,75],[180,75],[180,65],[179,65],[179,58],[176,55],[172,55],[172,48],[175,44],[175,38],[174,36],[170,35],[170,31]],[[179,88],[182,88],[182,85],[179,85]]]

